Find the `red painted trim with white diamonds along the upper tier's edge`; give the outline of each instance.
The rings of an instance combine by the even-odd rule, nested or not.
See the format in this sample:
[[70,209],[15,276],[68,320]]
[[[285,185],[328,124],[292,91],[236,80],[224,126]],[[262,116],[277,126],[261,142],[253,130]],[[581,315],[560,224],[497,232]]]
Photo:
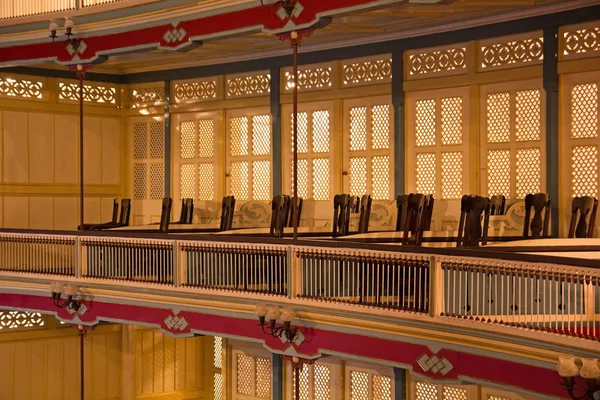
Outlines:
[[[336,10],[343,8],[357,7],[369,3],[377,3],[380,0],[298,0],[304,9],[292,21],[296,25],[308,25],[317,22],[317,16],[320,14],[335,13]],[[208,17],[196,18],[188,21],[181,21],[176,25],[176,29],[183,28],[185,35],[183,38],[165,41],[163,36],[174,29],[172,24],[163,24],[142,29],[132,29],[127,32],[120,32],[109,35],[86,36],[81,38],[85,42],[86,48],[80,54],[79,59],[73,59],[75,55],[69,54],[67,48],[62,43],[55,44],[50,41],[46,43],[16,45],[2,48],[0,51],[1,63],[14,63],[23,61],[35,61],[42,59],[56,59],[60,63],[80,63],[91,62],[97,56],[110,55],[120,49],[138,48],[140,51],[147,50],[148,47],[170,47],[176,48],[186,43],[190,38],[194,40],[203,40],[206,37],[218,37],[231,35],[232,31],[251,29],[256,27],[256,31],[281,31],[286,29],[286,20],[281,20],[277,15],[279,7],[266,9],[262,6],[238,11],[226,11],[222,14],[211,15]]]

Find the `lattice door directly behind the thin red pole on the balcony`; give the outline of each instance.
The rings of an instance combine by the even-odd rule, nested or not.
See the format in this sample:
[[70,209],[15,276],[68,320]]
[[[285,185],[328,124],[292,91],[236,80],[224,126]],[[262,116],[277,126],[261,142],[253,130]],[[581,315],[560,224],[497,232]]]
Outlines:
[[[287,194],[293,193],[293,119],[289,107],[284,110],[284,177]],[[305,200],[302,224],[312,226],[313,219],[329,221],[333,206],[333,112],[330,103],[300,104],[298,108],[298,196]]]

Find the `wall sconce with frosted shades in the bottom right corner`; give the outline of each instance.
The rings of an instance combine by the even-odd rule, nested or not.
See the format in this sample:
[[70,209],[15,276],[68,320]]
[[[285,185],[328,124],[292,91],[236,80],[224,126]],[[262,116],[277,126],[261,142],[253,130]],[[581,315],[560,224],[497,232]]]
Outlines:
[[[563,377],[562,386],[569,393],[573,400],[600,400],[600,367],[598,359],[582,358],[581,367],[575,362],[574,357],[558,357],[557,371]],[[587,381],[587,387],[583,388],[583,395],[576,395],[574,392],[578,389],[575,386],[575,377],[581,375]]]

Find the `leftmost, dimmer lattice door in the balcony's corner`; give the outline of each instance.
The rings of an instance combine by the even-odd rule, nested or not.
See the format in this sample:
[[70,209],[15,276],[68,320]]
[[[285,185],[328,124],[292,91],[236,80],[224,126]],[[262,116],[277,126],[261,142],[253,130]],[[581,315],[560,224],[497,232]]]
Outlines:
[[157,117],[131,120],[132,225],[160,220],[161,200],[165,193],[164,124]]

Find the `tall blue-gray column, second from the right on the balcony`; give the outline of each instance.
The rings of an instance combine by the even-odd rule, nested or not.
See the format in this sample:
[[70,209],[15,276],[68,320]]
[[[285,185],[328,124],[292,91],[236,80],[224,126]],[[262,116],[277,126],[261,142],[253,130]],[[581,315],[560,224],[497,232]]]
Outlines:
[[394,107],[394,197],[405,191],[404,60],[402,51],[392,53],[392,106]]

